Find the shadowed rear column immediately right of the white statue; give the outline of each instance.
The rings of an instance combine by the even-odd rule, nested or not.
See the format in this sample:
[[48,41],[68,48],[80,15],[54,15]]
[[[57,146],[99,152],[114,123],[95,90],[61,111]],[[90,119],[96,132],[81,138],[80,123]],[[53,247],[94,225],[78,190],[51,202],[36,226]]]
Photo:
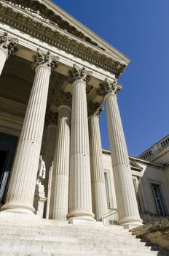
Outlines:
[[57,121],[58,121],[58,113],[53,113],[49,111],[46,115],[46,124],[47,124],[47,135],[44,146],[44,162],[46,165],[46,178],[44,179],[44,192],[47,197],[47,201],[44,203],[44,218],[49,217],[50,210],[50,171],[52,170],[52,161],[54,159],[55,152],[55,143],[56,143],[56,132],[57,132]]

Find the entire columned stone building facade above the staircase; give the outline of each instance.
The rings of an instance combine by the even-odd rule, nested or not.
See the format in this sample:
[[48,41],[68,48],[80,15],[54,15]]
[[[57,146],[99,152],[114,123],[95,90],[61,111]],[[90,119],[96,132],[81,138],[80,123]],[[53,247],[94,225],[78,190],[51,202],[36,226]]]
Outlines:
[[0,2],[1,214],[34,215],[42,155],[44,218],[135,227],[168,215],[168,137],[127,154],[117,97],[129,63],[51,1]]

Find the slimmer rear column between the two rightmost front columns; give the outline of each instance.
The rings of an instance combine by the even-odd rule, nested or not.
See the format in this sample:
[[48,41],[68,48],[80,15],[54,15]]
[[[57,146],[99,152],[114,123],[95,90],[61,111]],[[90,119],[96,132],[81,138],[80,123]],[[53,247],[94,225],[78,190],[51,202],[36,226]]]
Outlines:
[[[93,109],[94,108],[94,109]],[[103,106],[98,104],[89,105],[88,112],[90,117],[89,122],[89,141],[90,141],[90,167],[92,180],[92,195],[93,195],[93,213],[97,221],[103,218],[106,214],[106,186],[103,173],[103,154],[101,147],[101,132],[99,127],[99,117]],[[92,111],[91,111],[92,110]],[[91,115],[92,112],[92,115]]]

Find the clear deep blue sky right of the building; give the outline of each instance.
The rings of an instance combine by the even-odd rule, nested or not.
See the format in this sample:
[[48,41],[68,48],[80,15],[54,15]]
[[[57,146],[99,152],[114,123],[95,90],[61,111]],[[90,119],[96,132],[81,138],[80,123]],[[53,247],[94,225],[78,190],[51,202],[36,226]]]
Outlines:
[[[56,0],[59,7],[131,59],[119,83],[128,152],[138,156],[169,134],[169,0]],[[109,149],[106,111],[103,148]]]

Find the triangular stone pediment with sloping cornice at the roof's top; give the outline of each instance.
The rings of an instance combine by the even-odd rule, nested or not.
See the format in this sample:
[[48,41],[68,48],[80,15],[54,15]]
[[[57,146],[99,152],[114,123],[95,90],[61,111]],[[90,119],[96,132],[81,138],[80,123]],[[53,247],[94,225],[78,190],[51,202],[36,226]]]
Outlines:
[[[17,10],[22,10],[29,18],[39,20],[39,23],[46,23],[53,27],[55,34],[52,36],[56,39],[67,42],[71,48],[78,48],[79,51],[85,51],[88,56],[101,60],[111,68],[106,68],[118,78],[125,67],[130,63],[122,53],[106,43],[103,39],[87,29],[82,23],[72,18],[66,12],[49,0],[7,0],[1,1],[9,4]],[[17,16],[16,16],[17,17]],[[18,18],[18,17],[17,17]],[[21,20],[21,18],[20,18]],[[31,25],[31,21],[30,24]],[[36,27],[34,27],[36,29]],[[37,29],[39,29],[37,27]],[[40,30],[40,29],[39,29]],[[48,29],[49,30],[49,29]],[[50,31],[50,30],[49,30]],[[50,34],[50,32],[47,33]],[[61,36],[60,36],[61,33]]]

